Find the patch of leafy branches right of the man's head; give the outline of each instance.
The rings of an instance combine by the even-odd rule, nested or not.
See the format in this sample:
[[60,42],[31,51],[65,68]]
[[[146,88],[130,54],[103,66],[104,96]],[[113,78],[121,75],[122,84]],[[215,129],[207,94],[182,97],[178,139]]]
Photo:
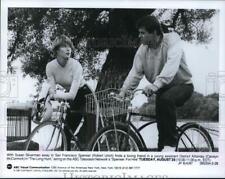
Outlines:
[[[211,40],[211,29],[207,27],[210,24],[207,21],[213,17],[215,10],[178,9],[170,11],[170,18],[166,20],[167,24],[181,34],[184,40],[195,40],[199,43],[207,43]],[[164,13],[166,13],[165,10],[159,11],[159,18]]]

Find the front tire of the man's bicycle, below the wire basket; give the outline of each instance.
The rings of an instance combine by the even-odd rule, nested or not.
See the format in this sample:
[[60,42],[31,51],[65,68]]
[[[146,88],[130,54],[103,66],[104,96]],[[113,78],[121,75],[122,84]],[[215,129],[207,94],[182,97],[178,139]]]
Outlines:
[[[128,130],[129,130],[129,134],[127,132]],[[122,133],[128,135],[129,138],[131,138],[133,140],[133,142],[136,144],[136,146],[138,148],[138,151],[143,151],[144,150],[144,147],[142,146],[142,143],[139,140],[138,136],[131,129],[128,129],[128,126],[126,124],[116,123],[116,131],[117,132],[122,132]],[[109,125],[109,126],[106,126],[104,128],[101,128],[92,137],[91,141],[89,142],[87,150],[88,151],[95,151],[96,142],[98,142],[98,140],[101,139],[100,138],[101,136],[103,136],[105,133],[107,134],[109,132],[115,132],[114,125]],[[107,150],[107,151],[111,151],[111,150]]]

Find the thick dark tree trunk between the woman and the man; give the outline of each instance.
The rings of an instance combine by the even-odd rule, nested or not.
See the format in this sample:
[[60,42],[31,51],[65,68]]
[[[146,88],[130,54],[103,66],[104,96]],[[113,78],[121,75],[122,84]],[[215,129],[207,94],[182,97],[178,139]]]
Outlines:
[[[155,9],[113,9],[109,14],[108,37],[116,40],[125,39],[136,43],[138,29],[137,20],[150,15]],[[123,40],[121,40],[123,43]],[[106,62],[99,77],[97,91],[106,88],[121,88],[129,70],[137,48],[133,45],[119,47],[116,44],[109,49]]]

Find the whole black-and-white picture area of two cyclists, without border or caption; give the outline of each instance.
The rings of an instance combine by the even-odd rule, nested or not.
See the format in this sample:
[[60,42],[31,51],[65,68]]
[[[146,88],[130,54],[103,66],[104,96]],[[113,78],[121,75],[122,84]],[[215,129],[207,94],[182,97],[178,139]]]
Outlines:
[[8,7],[5,150],[217,155],[221,12]]

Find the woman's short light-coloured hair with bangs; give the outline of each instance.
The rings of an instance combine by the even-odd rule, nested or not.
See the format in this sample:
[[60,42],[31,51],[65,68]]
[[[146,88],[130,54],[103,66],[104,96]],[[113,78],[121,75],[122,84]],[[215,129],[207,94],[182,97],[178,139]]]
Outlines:
[[53,46],[52,46],[52,51],[56,55],[56,52],[59,49],[59,47],[64,47],[67,45],[69,45],[72,52],[74,52],[74,45],[73,45],[72,41],[70,40],[70,38],[67,37],[66,35],[60,35],[60,36],[56,37],[56,39],[54,40]]

